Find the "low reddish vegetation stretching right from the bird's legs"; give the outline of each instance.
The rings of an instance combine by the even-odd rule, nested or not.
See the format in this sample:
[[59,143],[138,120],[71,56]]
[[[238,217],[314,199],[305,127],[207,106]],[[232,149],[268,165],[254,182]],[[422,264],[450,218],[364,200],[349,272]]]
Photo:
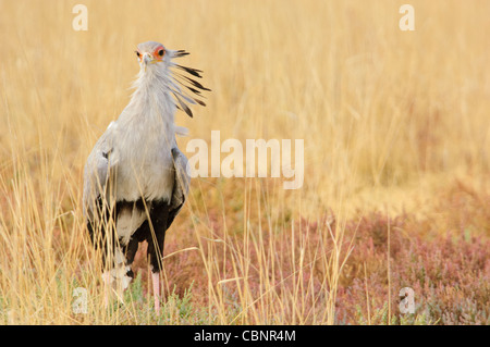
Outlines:
[[[336,288],[336,324],[490,323],[490,196],[460,183],[445,191],[430,215],[359,213],[342,226],[341,255],[351,252]],[[215,212],[207,211],[211,226],[220,225],[212,223],[219,220]],[[186,220],[179,236],[169,234],[166,253],[177,251],[182,245],[198,246],[193,225]],[[233,225],[233,219],[228,218],[226,223]],[[169,290],[174,288],[182,296],[192,286],[196,306],[209,305],[210,286],[216,289],[219,281],[246,275],[253,298],[269,292],[283,298],[280,305],[284,315],[293,317],[297,311],[306,318],[321,315],[328,296],[323,294],[330,290],[324,257],[333,247],[335,228],[341,226],[331,214],[319,221],[289,221],[286,225],[294,228],[294,240],[291,233],[274,234],[266,227],[260,239],[258,232],[228,232],[225,236],[222,228],[212,227],[215,240],[201,236],[203,252],[183,251],[166,260]],[[216,239],[225,239],[228,246],[215,245]],[[238,250],[238,256],[233,255],[233,249]],[[203,257],[212,257],[216,270],[206,270]],[[241,260],[249,262],[245,270],[241,269]],[[145,271],[143,259],[136,263]],[[244,285],[238,281],[226,283],[223,305],[240,312],[238,283]],[[399,294],[404,287],[415,293],[413,314],[403,314],[399,308]],[[287,297],[301,300],[291,307],[284,303]],[[291,322],[317,321],[311,318]]]

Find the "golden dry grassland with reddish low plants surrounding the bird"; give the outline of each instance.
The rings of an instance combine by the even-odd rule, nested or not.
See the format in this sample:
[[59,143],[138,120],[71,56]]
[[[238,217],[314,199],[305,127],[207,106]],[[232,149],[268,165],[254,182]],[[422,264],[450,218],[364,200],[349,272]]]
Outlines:
[[[411,1],[416,30],[402,32],[405,2],[0,1],[0,322],[488,324],[490,2]],[[140,258],[125,305],[102,309],[81,205],[146,40],[189,51],[180,63],[212,89],[176,115],[181,149],[212,129],[305,139],[298,190],[192,182],[162,317]],[[400,313],[405,286],[415,314]]]

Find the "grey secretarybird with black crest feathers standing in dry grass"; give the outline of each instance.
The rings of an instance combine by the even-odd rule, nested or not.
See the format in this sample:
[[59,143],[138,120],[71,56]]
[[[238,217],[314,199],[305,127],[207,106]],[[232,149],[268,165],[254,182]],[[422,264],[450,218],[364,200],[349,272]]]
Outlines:
[[135,91],[96,142],[84,172],[84,215],[94,246],[102,251],[106,289],[121,294],[127,288],[134,277],[131,264],[146,240],[157,313],[166,232],[191,181],[175,141],[175,133],[187,129],[174,124],[174,114],[181,109],[192,117],[186,103],[205,106],[196,96],[210,90],[183,74],[201,77],[201,71],[173,62],[186,54],[155,41],[137,46]]

